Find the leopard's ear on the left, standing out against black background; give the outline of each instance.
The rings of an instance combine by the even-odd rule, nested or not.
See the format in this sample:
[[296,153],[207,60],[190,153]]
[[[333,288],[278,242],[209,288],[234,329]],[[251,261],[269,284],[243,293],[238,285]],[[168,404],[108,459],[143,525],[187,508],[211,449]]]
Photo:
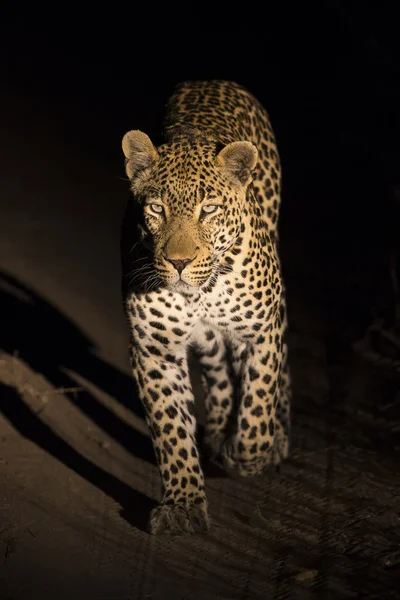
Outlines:
[[151,167],[158,160],[158,153],[151,139],[142,131],[128,131],[122,139],[122,150],[129,179],[133,179],[140,171]]

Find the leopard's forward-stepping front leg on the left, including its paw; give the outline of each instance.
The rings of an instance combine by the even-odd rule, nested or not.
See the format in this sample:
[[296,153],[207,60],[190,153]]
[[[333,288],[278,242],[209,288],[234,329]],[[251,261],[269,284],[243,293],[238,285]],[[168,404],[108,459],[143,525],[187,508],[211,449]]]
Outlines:
[[150,532],[206,531],[208,508],[186,355],[182,349],[166,354],[158,347],[154,356],[136,342],[131,360],[163,483],[161,503],[150,516]]

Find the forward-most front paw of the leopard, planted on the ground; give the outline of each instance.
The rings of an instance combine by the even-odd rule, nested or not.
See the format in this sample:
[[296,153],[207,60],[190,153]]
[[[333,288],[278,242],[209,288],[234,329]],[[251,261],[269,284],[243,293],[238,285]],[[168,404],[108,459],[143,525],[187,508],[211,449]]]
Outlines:
[[210,529],[207,504],[161,504],[153,509],[149,521],[152,534],[187,535]]

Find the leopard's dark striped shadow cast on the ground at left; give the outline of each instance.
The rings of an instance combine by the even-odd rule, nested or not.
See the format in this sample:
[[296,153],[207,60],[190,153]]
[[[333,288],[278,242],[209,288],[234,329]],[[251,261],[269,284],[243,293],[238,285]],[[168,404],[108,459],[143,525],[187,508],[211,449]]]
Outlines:
[[[133,380],[96,354],[90,340],[60,311],[11,275],[0,274],[1,346],[18,354],[54,388],[74,388],[73,371],[115,398],[137,416],[144,417]],[[89,391],[65,393],[69,402],[134,457],[155,464],[151,440],[100,404]],[[42,447],[122,506],[122,516],[143,528],[154,502],[85,458],[52,429],[12,388],[1,385],[0,409],[26,438]],[[135,506],[135,515],[129,511]]]

